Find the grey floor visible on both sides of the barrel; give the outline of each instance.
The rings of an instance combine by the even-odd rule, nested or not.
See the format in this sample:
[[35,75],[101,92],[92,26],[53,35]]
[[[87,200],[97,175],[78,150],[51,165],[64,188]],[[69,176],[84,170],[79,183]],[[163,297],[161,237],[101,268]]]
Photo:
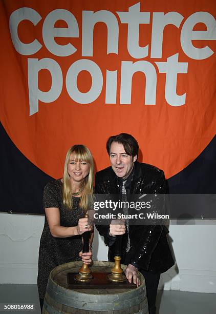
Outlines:
[[[40,314],[36,285],[0,285],[0,303],[34,303],[34,314]],[[157,314],[216,314],[216,294],[159,290]],[[29,311],[0,311],[1,314]]]

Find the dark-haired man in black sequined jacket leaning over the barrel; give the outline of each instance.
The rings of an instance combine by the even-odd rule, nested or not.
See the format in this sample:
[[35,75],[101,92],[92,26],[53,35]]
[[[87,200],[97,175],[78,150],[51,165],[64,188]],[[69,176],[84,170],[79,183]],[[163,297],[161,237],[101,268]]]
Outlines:
[[[96,173],[95,192],[98,194],[159,194],[165,193],[165,178],[162,170],[137,161],[139,145],[127,133],[111,136],[106,143],[111,167]],[[123,234],[121,263],[126,264],[126,278],[139,285],[137,270],[145,277],[149,314],[156,313],[156,296],[160,274],[172,265],[167,242],[169,232],[163,224],[97,225],[104,242],[109,246],[109,261],[114,261],[115,237]]]

